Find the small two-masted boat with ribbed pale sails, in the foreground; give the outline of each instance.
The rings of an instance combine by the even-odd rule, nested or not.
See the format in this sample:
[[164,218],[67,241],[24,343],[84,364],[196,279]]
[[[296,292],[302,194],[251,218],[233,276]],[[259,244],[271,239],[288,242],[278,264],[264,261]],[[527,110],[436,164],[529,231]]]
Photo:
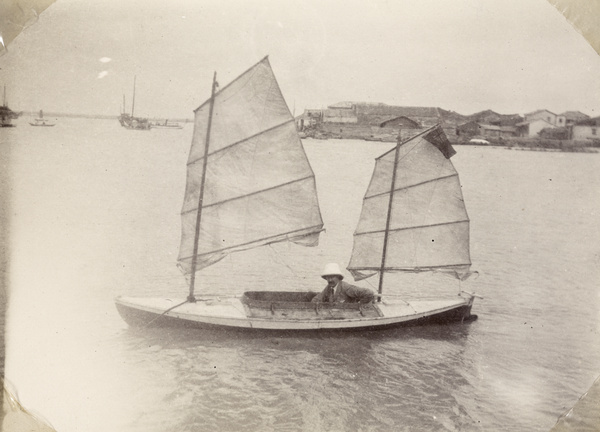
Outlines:
[[[276,242],[316,246],[323,231],[315,176],[268,57],[226,87],[217,87],[215,73],[210,99],[195,111],[187,163],[178,258],[190,279],[187,298],[119,296],[117,310],[129,325],[331,331],[474,317],[474,294],[464,292],[449,300],[407,302],[387,298],[380,289],[378,301],[369,304],[313,303],[317,293],[311,291],[196,296],[197,273],[228,254]],[[435,127],[398,142],[394,151],[378,159],[348,267],[356,277],[380,273],[383,283],[390,271],[468,275],[469,221],[449,160],[452,152],[441,128]],[[410,180],[412,174],[416,178]],[[418,191],[429,198],[419,198]],[[386,198],[387,212],[382,208]],[[425,202],[432,210],[450,214],[425,215],[428,212],[417,205]],[[415,207],[410,208],[417,212],[415,220],[426,221],[407,226],[402,217],[405,204]],[[435,246],[427,243],[431,236]],[[406,240],[412,240],[412,253],[400,252],[400,242]],[[445,253],[449,256],[444,258]]]

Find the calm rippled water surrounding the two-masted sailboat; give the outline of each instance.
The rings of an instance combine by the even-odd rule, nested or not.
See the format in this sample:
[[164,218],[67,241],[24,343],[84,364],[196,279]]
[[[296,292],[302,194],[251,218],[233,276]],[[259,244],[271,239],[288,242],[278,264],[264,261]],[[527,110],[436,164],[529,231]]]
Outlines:
[[[12,193],[6,377],[57,430],[547,431],[600,374],[600,154],[457,147],[479,271],[463,288],[484,297],[470,325],[129,329],[115,296],[187,292],[175,261],[191,133],[80,119],[0,130]],[[325,263],[347,265],[373,159],[391,144],[305,147],[327,229],[319,247],[231,255],[201,273],[200,291],[317,290]],[[408,297],[459,288],[392,282],[386,292]]]

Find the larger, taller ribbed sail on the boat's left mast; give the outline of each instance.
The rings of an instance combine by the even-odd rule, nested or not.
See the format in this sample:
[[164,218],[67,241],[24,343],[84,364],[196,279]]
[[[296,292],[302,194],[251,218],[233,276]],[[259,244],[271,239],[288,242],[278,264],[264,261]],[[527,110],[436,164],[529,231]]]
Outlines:
[[[196,270],[269,243],[318,244],[323,221],[315,177],[265,57],[195,112],[182,208],[179,266],[192,272],[208,145]],[[207,144],[207,128],[210,139]]]

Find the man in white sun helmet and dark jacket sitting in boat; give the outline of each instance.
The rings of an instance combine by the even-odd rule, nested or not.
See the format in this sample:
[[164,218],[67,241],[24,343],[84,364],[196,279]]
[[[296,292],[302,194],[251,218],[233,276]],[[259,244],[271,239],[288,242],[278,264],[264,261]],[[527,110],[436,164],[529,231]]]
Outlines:
[[327,281],[325,289],[313,297],[312,302],[324,303],[372,303],[373,291],[343,282],[344,275],[336,263],[325,266],[321,277]]

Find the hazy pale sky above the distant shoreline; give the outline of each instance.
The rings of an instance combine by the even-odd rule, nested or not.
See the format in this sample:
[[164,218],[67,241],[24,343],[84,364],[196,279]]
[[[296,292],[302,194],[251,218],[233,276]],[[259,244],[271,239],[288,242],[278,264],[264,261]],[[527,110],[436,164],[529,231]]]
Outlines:
[[0,57],[16,110],[188,117],[269,55],[300,114],[345,101],[600,115],[600,56],[546,0],[58,0]]

